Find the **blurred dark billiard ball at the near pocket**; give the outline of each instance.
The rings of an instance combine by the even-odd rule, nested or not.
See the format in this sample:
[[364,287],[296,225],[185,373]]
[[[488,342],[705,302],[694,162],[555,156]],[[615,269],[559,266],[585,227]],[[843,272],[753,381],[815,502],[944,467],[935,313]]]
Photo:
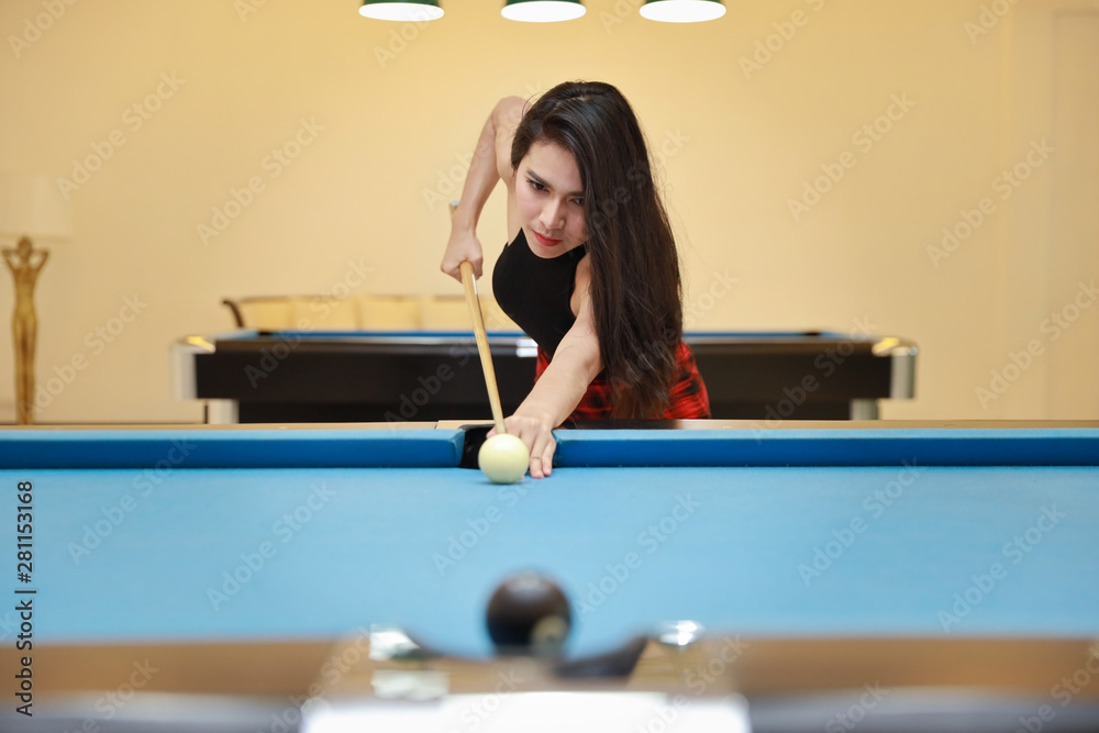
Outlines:
[[504,578],[488,602],[488,635],[498,654],[559,656],[573,623],[560,587],[539,573]]

